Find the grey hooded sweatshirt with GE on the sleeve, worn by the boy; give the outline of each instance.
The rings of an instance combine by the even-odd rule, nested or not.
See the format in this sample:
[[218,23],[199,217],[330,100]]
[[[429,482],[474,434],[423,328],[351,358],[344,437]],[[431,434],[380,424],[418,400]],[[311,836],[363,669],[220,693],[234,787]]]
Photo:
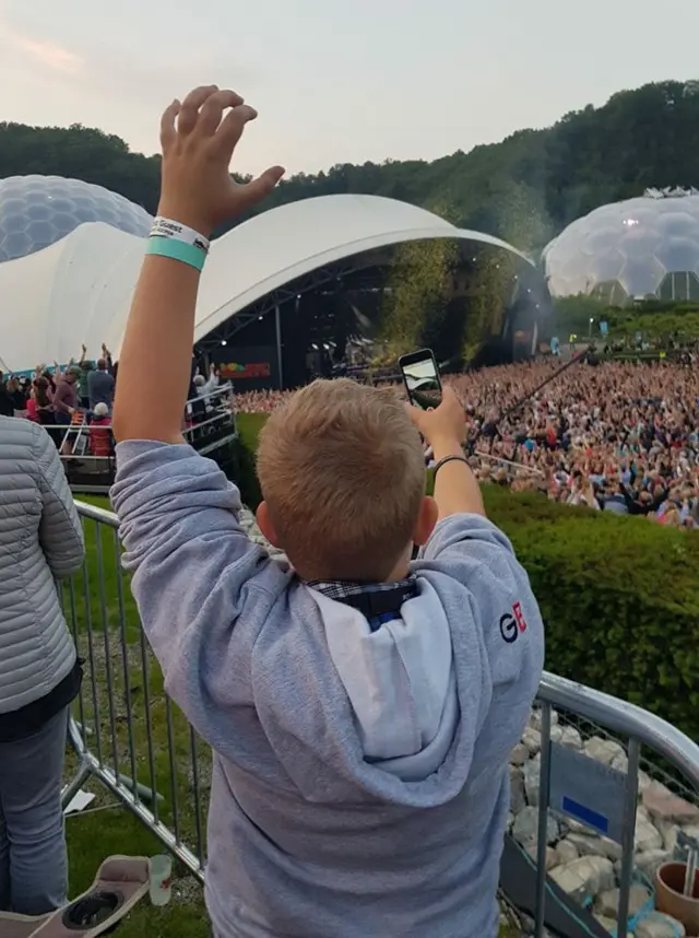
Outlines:
[[215,464],[146,442],[117,462],[143,626],[214,749],[218,938],[494,938],[508,755],[544,656],[507,538],[441,521],[418,596],[372,633],[251,543]]

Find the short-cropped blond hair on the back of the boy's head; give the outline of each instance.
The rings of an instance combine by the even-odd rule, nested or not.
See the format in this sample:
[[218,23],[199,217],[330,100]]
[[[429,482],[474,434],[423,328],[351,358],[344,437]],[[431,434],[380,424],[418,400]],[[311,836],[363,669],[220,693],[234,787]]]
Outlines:
[[425,493],[419,434],[392,389],[317,380],[272,413],[258,476],[280,546],[305,579],[384,581]]

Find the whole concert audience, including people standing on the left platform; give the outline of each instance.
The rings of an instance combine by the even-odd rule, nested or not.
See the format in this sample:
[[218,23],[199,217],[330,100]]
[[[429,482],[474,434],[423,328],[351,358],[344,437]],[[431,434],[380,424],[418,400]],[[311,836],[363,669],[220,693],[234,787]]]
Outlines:
[[[574,364],[556,376],[559,367],[558,360],[548,359],[445,378],[466,412],[476,477],[565,504],[699,527],[697,372],[670,361]],[[63,455],[72,453],[71,425],[90,426],[92,455],[109,455],[116,372],[103,345],[96,362],[83,347],[80,360],[63,370],[39,365],[32,377],[0,373],[0,414],[47,426]],[[220,383],[214,366],[205,377],[193,370],[190,423],[198,417],[193,401]],[[288,395],[239,391],[235,407],[241,413],[272,413]],[[522,407],[502,417],[523,398]]]

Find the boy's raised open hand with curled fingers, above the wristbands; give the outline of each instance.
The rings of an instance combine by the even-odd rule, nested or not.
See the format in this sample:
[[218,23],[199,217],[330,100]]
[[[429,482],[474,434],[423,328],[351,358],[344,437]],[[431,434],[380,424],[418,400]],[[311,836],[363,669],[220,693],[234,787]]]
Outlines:
[[282,166],[249,183],[236,183],[228,171],[246,124],[257,116],[239,94],[216,85],[194,89],[181,104],[174,101],[161,121],[158,214],[208,237],[216,225],[268,196],[284,175]]

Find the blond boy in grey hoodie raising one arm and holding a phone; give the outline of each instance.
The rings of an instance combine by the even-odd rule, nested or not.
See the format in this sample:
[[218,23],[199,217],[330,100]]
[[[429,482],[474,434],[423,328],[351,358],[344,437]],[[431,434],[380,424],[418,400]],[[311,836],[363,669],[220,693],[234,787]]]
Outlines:
[[237,489],[180,435],[196,253],[283,173],[228,175],[256,116],[201,87],[163,117],[161,230],[176,234],[146,250],[114,413],[112,501],[143,628],[214,750],[214,931],[495,938],[508,755],[544,640],[463,458],[455,396],[411,412],[387,391],[316,382],[272,414],[258,518],[291,566],[250,542]]

